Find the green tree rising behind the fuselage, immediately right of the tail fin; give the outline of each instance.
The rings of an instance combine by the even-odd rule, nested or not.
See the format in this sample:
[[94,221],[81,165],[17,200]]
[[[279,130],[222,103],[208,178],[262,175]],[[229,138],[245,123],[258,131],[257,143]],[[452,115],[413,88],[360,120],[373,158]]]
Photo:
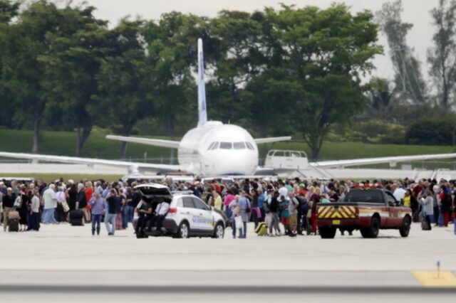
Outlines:
[[244,87],[264,63],[261,23],[246,12],[221,11],[209,22],[208,31],[204,48],[207,70],[212,71],[207,90],[209,117],[251,127],[245,123],[252,113]]

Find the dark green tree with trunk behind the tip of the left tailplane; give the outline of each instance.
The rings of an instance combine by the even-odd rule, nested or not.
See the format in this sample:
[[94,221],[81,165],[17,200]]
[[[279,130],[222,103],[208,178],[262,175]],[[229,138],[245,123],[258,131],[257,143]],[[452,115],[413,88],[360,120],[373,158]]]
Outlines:
[[[113,29],[115,48],[101,60],[98,97],[103,113],[110,122],[120,125],[121,134],[130,136],[138,120],[152,113],[154,98],[153,75],[147,64],[142,36],[144,21],[123,19]],[[120,156],[125,158],[127,142],[123,142]]]

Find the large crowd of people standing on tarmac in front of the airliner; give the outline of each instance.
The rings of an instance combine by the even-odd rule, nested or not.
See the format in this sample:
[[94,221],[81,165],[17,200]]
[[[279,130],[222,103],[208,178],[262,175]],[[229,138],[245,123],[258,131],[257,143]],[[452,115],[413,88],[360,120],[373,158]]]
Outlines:
[[[135,189],[146,180],[107,182],[103,180],[56,180],[46,184],[36,181],[0,181],[1,213],[6,231],[9,213],[19,212],[19,231],[39,230],[41,224],[68,222],[68,213],[81,210],[91,222],[92,235],[100,235],[104,223],[108,235],[128,228],[133,223],[135,208],[141,205],[141,194]],[[229,219],[233,238],[247,237],[247,223],[268,226],[266,235],[316,235],[319,203],[343,201],[352,188],[385,188],[396,200],[413,211],[415,222],[425,220],[429,226],[448,226],[455,220],[455,181],[423,179],[338,181],[301,179],[214,179],[173,181],[163,184],[171,191],[191,191],[209,206]],[[138,213],[142,211],[138,210]],[[162,214],[166,215],[166,214]],[[282,231],[283,230],[283,231]],[[343,234],[343,230],[341,230]],[[351,234],[351,231],[349,231]]]

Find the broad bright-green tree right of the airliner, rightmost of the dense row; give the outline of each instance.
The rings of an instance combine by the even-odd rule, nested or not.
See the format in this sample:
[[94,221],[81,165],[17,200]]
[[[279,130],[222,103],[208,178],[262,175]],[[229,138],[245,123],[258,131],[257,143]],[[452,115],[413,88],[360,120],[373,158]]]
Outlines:
[[292,79],[292,87],[299,83],[302,91],[281,104],[294,110],[290,119],[301,129],[313,159],[318,159],[331,125],[348,124],[366,106],[361,77],[374,68],[373,56],[382,52],[375,44],[373,14],[352,15],[341,4],[324,10],[284,6],[281,11],[266,9],[265,14],[272,25],[270,41],[276,41],[266,46],[271,65],[280,67]]

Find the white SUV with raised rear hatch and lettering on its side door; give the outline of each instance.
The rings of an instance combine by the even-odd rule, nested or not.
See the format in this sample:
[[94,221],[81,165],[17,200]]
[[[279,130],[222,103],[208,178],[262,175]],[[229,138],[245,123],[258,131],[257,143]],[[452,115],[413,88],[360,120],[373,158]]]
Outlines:
[[170,188],[162,184],[141,184],[135,188],[142,196],[152,201],[154,210],[158,198],[165,198],[165,202],[170,203],[170,211],[163,221],[160,232],[156,227],[152,227],[151,230],[146,228],[143,230],[146,238],[149,235],[170,235],[175,238],[224,237],[224,217],[191,192],[172,193]]

